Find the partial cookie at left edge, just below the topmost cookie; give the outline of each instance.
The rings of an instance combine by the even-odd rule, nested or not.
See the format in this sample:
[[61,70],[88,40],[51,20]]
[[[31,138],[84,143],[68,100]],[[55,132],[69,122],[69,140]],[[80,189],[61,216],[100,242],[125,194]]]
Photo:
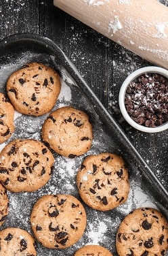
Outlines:
[[14,129],[14,107],[5,95],[0,93],[0,143],[8,140]]

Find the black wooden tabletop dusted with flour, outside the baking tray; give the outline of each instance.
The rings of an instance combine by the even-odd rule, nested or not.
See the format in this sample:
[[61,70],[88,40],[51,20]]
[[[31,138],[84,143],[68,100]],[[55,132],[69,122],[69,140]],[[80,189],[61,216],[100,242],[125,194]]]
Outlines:
[[58,10],[53,0],[1,0],[0,31],[0,39],[35,33],[56,42],[168,189],[168,131],[136,131],[119,111],[121,83],[131,71],[150,63]]

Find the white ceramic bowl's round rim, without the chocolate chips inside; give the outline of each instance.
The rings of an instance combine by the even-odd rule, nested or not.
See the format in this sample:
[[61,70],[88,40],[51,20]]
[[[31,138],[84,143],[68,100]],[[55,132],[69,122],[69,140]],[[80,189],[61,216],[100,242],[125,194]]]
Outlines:
[[120,107],[121,113],[123,114],[123,117],[125,118],[127,123],[129,123],[129,125],[131,125],[135,129],[138,129],[140,131],[144,131],[147,133],[156,133],[159,131],[164,131],[168,129],[168,122],[163,123],[163,125],[160,125],[157,127],[146,127],[144,125],[139,125],[138,123],[133,121],[133,119],[131,118],[131,116],[129,116],[125,108],[125,92],[127,90],[127,86],[131,81],[135,80],[135,78],[138,78],[138,76],[141,76],[144,73],[160,74],[168,78],[168,70],[163,69],[162,67],[149,66],[149,67],[142,67],[140,69],[137,69],[136,71],[133,71],[133,73],[131,73],[125,79],[119,92],[119,107]]

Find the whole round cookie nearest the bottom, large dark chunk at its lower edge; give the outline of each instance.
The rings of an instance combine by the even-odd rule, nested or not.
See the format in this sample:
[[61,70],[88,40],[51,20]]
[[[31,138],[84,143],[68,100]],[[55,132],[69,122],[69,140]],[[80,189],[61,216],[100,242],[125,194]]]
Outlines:
[[76,197],[43,195],[33,207],[30,223],[35,237],[43,246],[65,249],[83,236],[87,218]]

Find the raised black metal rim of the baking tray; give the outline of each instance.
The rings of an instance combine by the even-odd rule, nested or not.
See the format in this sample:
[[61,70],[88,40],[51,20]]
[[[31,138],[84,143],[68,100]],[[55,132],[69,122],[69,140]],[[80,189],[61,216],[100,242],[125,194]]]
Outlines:
[[108,110],[106,110],[106,108],[102,105],[100,99],[98,99],[98,97],[96,97],[96,95],[93,93],[91,88],[82,78],[77,67],[75,67],[75,65],[68,59],[68,57],[66,57],[66,54],[62,51],[62,49],[54,41],[43,35],[35,33],[16,33],[13,35],[9,35],[0,41],[0,57],[2,55],[1,52],[3,52],[3,49],[7,48],[11,44],[16,44],[17,42],[19,44],[21,42],[35,42],[36,44],[45,47],[46,50],[48,50],[49,52],[53,52],[53,54],[56,54],[59,63],[61,63],[62,66],[68,71],[72,79],[75,80],[75,82],[78,84],[78,86],[87,96],[87,98],[88,94],[91,95],[91,97],[89,97],[89,100],[93,104],[96,112],[101,110],[101,113],[99,114],[101,114],[102,119],[108,120],[108,122],[110,122],[110,127],[115,130],[115,133],[117,133],[120,137],[119,140],[123,144],[124,148],[127,148],[129,150],[129,154],[131,154],[133,159],[135,159],[135,163],[140,172],[142,172],[142,174],[148,180],[149,184],[154,186],[154,189],[156,189],[156,191],[159,191],[160,195],[163,198],[163,202],[160,203],[164,204],[165,208],[168,208],[168,191],[165,189],[161,181],[156,177],[154,172],[152,172],[146,161],[144,161],[144,159],[141,157],[140,153],[138,153],[138,150],[136,150],[133,144],[131,144],[131,142],[127,138],[127,135],[119,126],[117,121],[115,121],[110,112],[108,112]]

